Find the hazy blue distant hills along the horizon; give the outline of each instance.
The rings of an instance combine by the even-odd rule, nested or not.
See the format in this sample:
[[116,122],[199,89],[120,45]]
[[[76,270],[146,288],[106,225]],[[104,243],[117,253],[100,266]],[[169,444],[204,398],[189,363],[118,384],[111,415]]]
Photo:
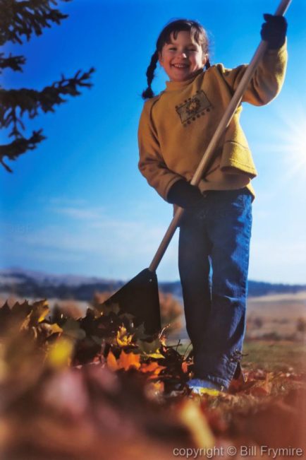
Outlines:
[[[136,275],[137,273],[135,273]],[[18,297],[35,297],[59,299],[92,300],[95,292],[116,291],[126,282],[103,278],[52,275],[23,269],[0,270],[0,293]],[[164,293],[182,296],[179,281],[159,282],[159,289]],[[249,281],[249,296],[267,294],[297,293],[306,290],[306,285],[288,285]]]

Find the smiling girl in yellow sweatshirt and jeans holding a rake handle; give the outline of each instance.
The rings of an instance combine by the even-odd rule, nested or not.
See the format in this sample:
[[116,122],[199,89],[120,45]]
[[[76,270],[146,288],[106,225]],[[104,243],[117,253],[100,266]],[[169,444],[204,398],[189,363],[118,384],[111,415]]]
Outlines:
[[[243,101],[270,102],[286,70],[286,20],[264,15],[267,52]],[[169,81],[154,97],[157,62]],[[166,25],[147,69],[139,126],[139,168],[163,199],[185,209],[178,268],[186,328],[193,348],[193,391],[226,390],[240,372],[245,336],[247,270],[252,225],[250,184],[257,175],[238,107],[198,187],[190,184],[247,66],[209,63],[207,34],[194,20]]]

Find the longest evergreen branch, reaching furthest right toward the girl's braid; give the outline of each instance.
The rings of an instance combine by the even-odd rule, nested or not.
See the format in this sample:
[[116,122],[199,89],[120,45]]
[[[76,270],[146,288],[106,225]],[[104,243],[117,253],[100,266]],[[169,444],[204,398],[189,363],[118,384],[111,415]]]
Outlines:
[[86,86],[90,88],[92,83],[88,82],[94,69],[90,69],[80,75],[78,71],[73,78],[61,77],[61,81],[47,86],[42,91],[29,90],[22,88],[20,90],[0,89],[0,127],[8,128],[13,125],[11,136],[20,135],[18,124],[23,128],[21,117],[27,112],[30,118],[42,112],[54,112],[54,105],[60,105],[66,102],[62,95],[77,96],[80,95],[78,87]]

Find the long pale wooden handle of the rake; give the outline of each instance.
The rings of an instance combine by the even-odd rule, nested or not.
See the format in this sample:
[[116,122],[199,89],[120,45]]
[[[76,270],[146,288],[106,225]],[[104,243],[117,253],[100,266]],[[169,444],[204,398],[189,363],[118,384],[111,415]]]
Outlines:
[[[276,9],[275,14],[277,16],[283,16],[286,13],[290,3],[291,3],[291,0],[281,0],[281,3],[279,4],[279,7]],[[243,98],[243,93],[245,93],[247,85],[250,83],[250,80],[255,72],[255,69],[260,59],[262,59],[262,56],[264,52],[266,51],[266,49],[267,49],[267,42],[264,42],[264,40],[262,40],[259,46],[257,47],[257,50],[254,56],[252,57],[250,64],[247,66],[247,70],[245,71],[243,78],[241,79],[237,89],[235,90],[235,93],[233,94],[233,98],[231,99],[231,102],[228,104],[228,107],[226,111],[224,112],[224,116],[221,118],[221,121],[216,128],[214,136],[212,136],[212,139],[209,142],[209,145],[207,146],[206,151],[204,152],[200,165],[197,167],[197,170],[195,171],[195,174],[193,175],[190,184],[198,185],[201,178],[203,177],[203,173],[207,169],[207,166],[209,165],[209,162],[212,159],[214,149],[216,148],[216,145],[218,144],[228,124],[230,124],[231,119],[233,118],[233,114],[235,113],[235,110],[237,109],[238,105],[241,102],[241,99]],[[183,208],[178,208],[176,213],[174,214],[173,219],[171,220],[171,223],[169,225],[169,228],[168,230],[166,230],[164,238],[161,240],[161,244],[159,244],[159,248],[157,249],[157,252],[154,255],[154,258],[152,259],[152,262],[149,265],[150,271],[154,272],[157,270],[157,267],[159,266],[159,262],[164,256],[164,253],[166,252],[166,249],[169,246],[169,243],[171,242],[171,238],[176,232],[176,228],[178,227],[179,220],[183,216],[183,213],[184,213]]]

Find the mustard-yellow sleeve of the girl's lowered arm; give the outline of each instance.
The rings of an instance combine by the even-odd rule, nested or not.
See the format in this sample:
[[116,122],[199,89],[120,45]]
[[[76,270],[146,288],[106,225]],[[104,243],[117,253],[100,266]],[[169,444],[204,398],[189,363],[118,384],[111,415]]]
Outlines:
[[138,167],[151,187],[167,201],[167,194],[174,182],[182,179],[176,172],[169,170],[161,155],[159,141],[152,121],[152,102],[148,100],[142,110],[138,129],[140,160]]

